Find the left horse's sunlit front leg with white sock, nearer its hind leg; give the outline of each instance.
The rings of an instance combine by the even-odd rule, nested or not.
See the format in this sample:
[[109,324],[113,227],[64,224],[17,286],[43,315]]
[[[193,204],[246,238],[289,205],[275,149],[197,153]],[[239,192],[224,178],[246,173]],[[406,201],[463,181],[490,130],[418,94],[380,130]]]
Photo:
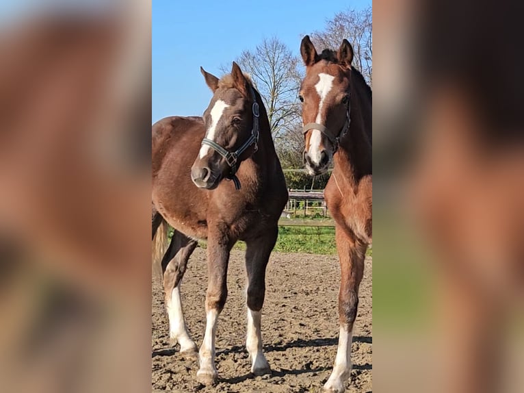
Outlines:
[[196,379],[205,385],[213,385],[218,379],[215,368],[215,334],[218,316],[227,298],[227,266],[232,244],[221,234],[209,236],[207,241],[207,271],[209,281],[206,294],[206,331],[198,358],[200,368]]

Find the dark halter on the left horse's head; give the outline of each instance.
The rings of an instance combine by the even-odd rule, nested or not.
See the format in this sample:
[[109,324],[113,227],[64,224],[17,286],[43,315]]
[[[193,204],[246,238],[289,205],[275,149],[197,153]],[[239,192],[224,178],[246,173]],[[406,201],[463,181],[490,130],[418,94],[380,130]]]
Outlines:
[[251,97],[253,99],[253,128],[251,129],[251,136],[242,144],[241,147],[239,147],[236,151],[228,151],[224,149],[220,144],[214,142],[211,139],[204,138],[202,139],[202,144],[207,144],[207,146],[211,147],[214,151],[216,151],[218,154],[220,154],[224,159],[226,160],[228,166],[231,168],[229,171],[229,175],[226,177],[228,180],[233,180],[233,183],[235,183],[235,189],[240,190],[240,181],[238,177],[235,175],[238,170],[238,159],[244,151],[246,151],[252,144],[254,144],[254,151],[257,151],[259,149],[259,103],[257,103],[257,97],[254,95],[254,90],[251,87]]

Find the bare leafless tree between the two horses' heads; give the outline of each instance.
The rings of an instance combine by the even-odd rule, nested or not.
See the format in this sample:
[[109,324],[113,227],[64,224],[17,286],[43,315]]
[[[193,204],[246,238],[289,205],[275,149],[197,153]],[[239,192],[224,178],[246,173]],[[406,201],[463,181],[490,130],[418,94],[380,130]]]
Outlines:
[[251,75],[262,96],[274,138],[281,138],[300,122],[299,58],[278,38],[269,38],[254,50],[243,51],[237,63]]

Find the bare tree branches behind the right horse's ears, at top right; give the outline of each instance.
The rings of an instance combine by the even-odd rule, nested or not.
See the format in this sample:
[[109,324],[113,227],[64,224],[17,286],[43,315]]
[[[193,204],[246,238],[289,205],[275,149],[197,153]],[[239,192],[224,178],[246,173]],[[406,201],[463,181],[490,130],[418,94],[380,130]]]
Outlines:
[[311,34],[311,40],[318,51],[325,48],[338,49],[344,38],[353,47],[353,66],[361,71],[371,86],[373,80],[373,13],[371,7],[361,11],[338,12],[326,22],[324,30],[314,31]]

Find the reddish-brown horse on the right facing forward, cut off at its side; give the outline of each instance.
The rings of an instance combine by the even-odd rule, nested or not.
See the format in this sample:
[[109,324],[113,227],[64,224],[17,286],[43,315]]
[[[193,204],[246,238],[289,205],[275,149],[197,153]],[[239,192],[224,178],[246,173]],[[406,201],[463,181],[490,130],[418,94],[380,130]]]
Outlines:
[[300,54],[306,66],[299,94],[304,164],[311,175],[325,173],[330,160],[335,164],[324,198],[335,220],[340,259],[340,331],[335,366],[324,389],[343,392],[351,371],[358,287],[371,243],[371,88],[351,66],[348,40],[338,51],[325,49],[319,55],[305,36]]

